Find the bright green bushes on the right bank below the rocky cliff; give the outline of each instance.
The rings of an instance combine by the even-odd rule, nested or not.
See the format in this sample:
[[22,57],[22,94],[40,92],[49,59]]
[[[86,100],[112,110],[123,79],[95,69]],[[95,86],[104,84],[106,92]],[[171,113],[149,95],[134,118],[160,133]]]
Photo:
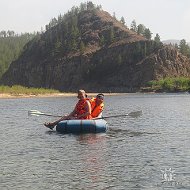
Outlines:
[[185,92],[190,90],[190,78],[165,78],[159,81],[149,81],[147,86],[151,91]]

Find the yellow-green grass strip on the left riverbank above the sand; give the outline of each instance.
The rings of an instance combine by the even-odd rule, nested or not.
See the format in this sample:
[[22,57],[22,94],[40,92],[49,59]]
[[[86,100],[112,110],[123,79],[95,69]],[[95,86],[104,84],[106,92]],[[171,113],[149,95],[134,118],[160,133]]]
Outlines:
[[23,87],[20,85],[14,86],[0,86],[0,93],[1,94],[11,94],[11,95],[19,95],[19,94],[26,94],[26,95],[38,95],[38,94],[53,94],[53,93],[60,93],[58,90],[54,89],[45,89],[45,88],[28,88]]

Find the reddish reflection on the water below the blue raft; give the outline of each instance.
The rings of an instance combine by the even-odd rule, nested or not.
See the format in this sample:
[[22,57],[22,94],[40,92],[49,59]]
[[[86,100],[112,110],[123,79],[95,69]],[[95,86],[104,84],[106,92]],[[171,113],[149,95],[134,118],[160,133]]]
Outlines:
[[[80,175],[85,176],[86,186],[97,188],[105,176],[107,151],[106,134],[81,134],[75,136],[81,152],[79,162],[81,163]],[[82,177],[81,176],[81,177]]]

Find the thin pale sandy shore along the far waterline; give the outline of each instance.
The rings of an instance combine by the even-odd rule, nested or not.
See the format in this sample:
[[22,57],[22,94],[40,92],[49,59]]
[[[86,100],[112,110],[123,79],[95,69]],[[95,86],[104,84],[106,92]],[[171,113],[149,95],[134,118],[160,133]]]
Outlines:
[[[88,93],[89,97],[96,96],[98,93]],[[126,93],[104,93],[105,96],[109,95],[121,95]],[[52,94],[1,94],[0,99],[8,99],[8,98],[45,98],[45,97],[67,97],[67,96],[77,96],[77,93],[52,93]]]

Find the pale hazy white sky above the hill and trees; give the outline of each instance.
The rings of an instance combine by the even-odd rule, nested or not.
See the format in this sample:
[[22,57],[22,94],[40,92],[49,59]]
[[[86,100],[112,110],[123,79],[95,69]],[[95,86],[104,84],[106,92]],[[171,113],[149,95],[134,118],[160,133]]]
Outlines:
[[[87,0],[0,0],[0,31],[16,33],[40,31],[41,27],[73,6]],[[90,1],[90,0],[88,0]],[[129,27],[132,20],[144,24],[161,40],[185,39],[190,42],[190,0],[91,0],[102,5]]]

